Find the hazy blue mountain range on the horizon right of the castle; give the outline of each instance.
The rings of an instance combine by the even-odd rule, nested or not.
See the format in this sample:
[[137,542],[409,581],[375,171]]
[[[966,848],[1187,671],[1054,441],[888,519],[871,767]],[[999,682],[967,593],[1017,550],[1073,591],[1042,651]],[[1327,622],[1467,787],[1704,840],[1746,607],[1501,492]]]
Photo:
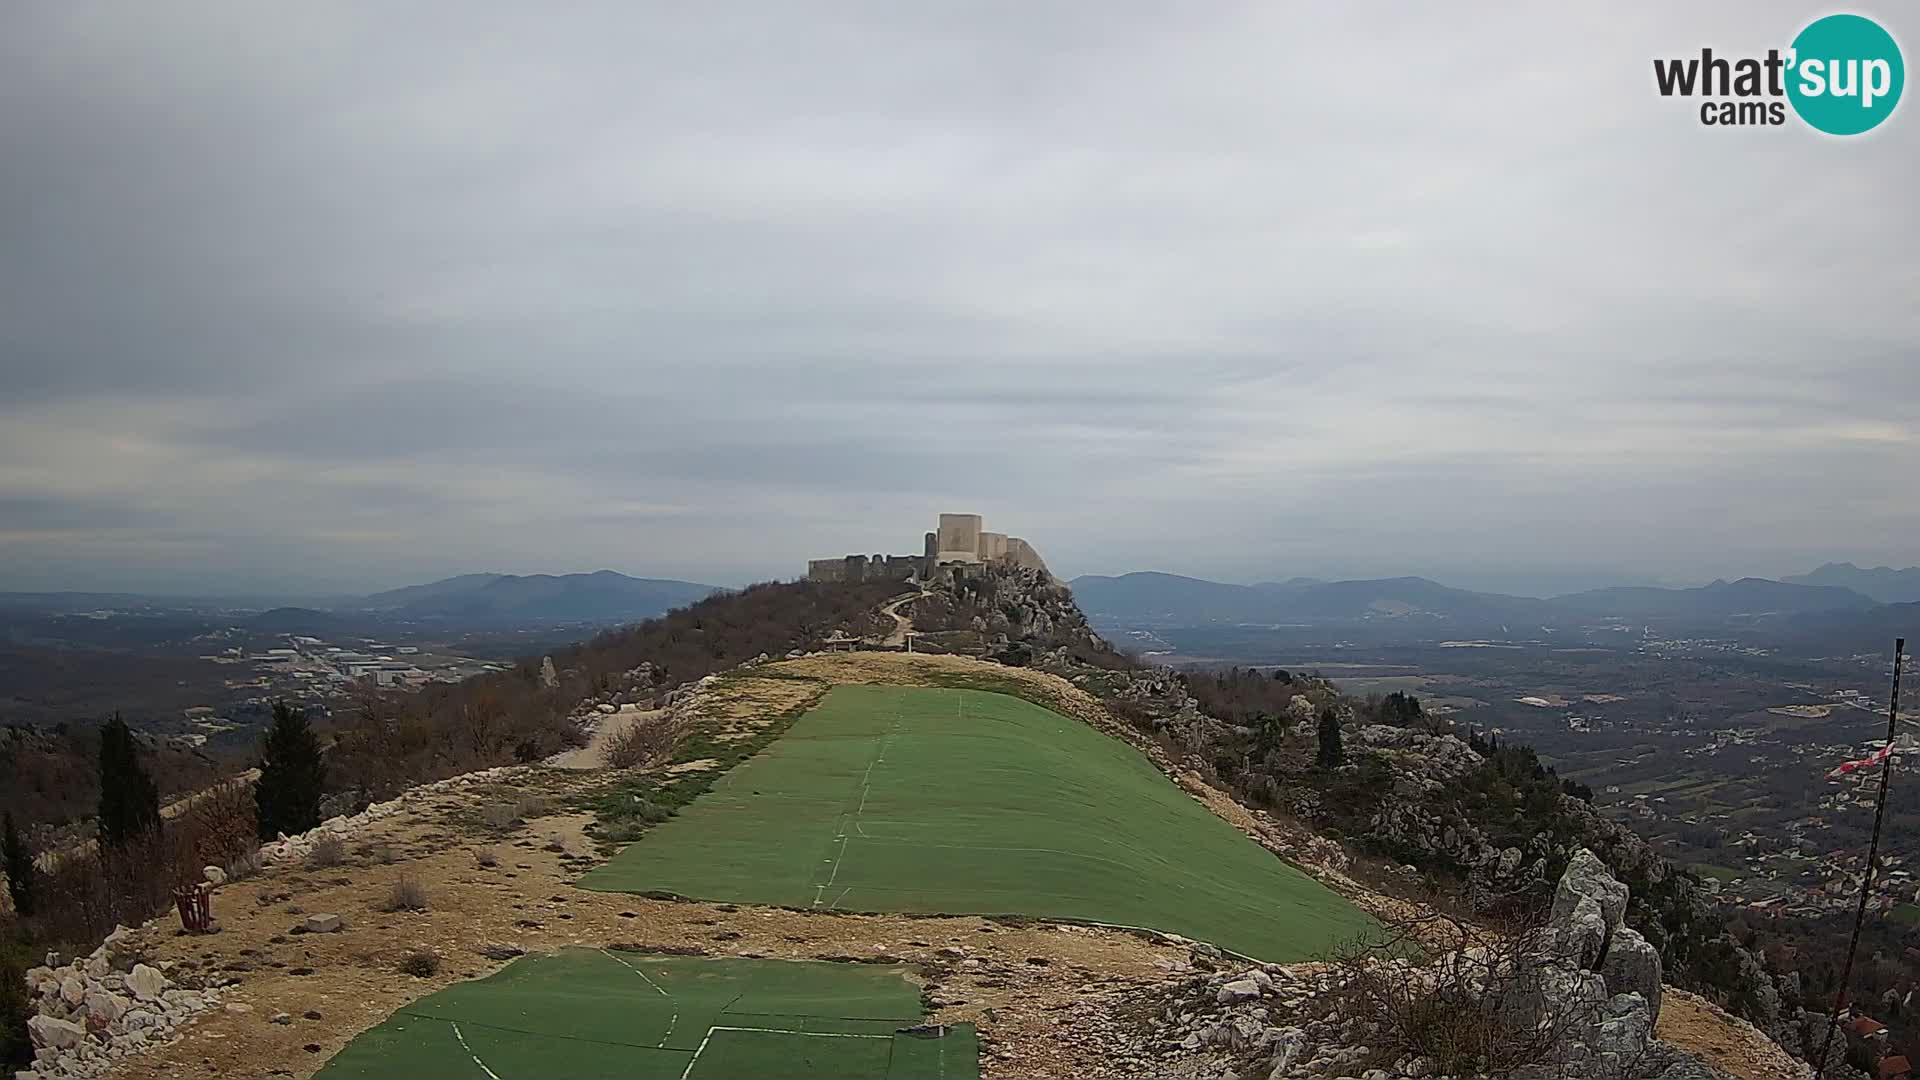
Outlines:
[[1745,615],[1803,615],[1876,607],[1870,596],[1849,588],[1766,578],[1716,580],[1699,588],[1597,588],[1551,600],[1471,592],[1419,577],[1334,582],[1294,578],[1284,584],[1248,586],[1164,573],[1131,573],[1121,577],[1087,575],[1069,584],[1089,617],[1137,626],[1359,619],[1528,626],[1569,619],[1720,621]]

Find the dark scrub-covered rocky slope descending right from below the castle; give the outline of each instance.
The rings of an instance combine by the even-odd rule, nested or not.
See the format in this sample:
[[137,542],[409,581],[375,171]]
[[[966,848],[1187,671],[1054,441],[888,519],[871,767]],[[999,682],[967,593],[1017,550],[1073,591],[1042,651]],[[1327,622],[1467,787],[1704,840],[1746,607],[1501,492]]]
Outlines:
[[[1248,807],[1411,865],[1469,911],[1536,911],[1571,855],[1590,847],[1630,888],[1628,924],[1659,949],[1670,982],[1795,1051],[1820,1026],[1797,974],[1770,972],[1759,949],[1730,934],[1697,876],[1596,813],[1592,792],[1561,780],[1532,748],[1459,738],[1405,696],[1354,700],[1304,673],[1150,669],[1092,634],[1071,592],[1023,571],[960,571],[914,615],[924,628],[972,632],[989,653],[1071,680]],[[1317,734],[1329,713],[1344,736],[1334,767]]]

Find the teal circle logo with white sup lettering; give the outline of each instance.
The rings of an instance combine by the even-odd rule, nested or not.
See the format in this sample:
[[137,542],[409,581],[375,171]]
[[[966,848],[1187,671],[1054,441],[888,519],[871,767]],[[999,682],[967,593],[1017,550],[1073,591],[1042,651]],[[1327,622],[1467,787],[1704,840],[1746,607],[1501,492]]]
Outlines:
[[1880,127],[1901,104],[1907,65],[1901,46],[1864,15],[1828,15],[1793,38],[1788,100],[1828,135]]

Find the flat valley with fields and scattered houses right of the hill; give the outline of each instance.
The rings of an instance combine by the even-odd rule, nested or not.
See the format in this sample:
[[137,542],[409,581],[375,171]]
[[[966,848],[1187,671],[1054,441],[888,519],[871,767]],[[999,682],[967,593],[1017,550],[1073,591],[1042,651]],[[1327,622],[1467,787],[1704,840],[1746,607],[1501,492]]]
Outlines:
[[[1125,630],[1112,628],[1121,638]],[[1365,698],[1415,694],[1465,728],[1524,742],[1594,805],[1757,913],[1826,917],[1859,899],[1876,771],[1826,774],[1885,738],[1889,657],[1789,657],[1730,640],[1617,644],[1302,642],[1302,630],[1156,628],[1171,665],[1317,673]],[[1905,715],[1905,713],[1903,713]],[[1920,882],[1920,792],[1893,788],[1885,911]]]

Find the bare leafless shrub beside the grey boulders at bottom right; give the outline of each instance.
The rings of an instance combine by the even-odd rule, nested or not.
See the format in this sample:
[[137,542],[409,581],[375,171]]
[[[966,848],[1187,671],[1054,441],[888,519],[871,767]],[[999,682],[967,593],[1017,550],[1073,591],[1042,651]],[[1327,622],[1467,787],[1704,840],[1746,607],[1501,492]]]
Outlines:
[[[1596,1020],[1588,1005],[1542,994],[1553,938],[1538,909],[1496,926],[1434,911],[1382,924],[1384,942],[1332,957],[1329,1001],[1384,1065],[1425,1057],[1442,1074],[1511,1076],[1557,1065],[1572,1034]],[[1409,959],[1432,947],[1448,951]]]

